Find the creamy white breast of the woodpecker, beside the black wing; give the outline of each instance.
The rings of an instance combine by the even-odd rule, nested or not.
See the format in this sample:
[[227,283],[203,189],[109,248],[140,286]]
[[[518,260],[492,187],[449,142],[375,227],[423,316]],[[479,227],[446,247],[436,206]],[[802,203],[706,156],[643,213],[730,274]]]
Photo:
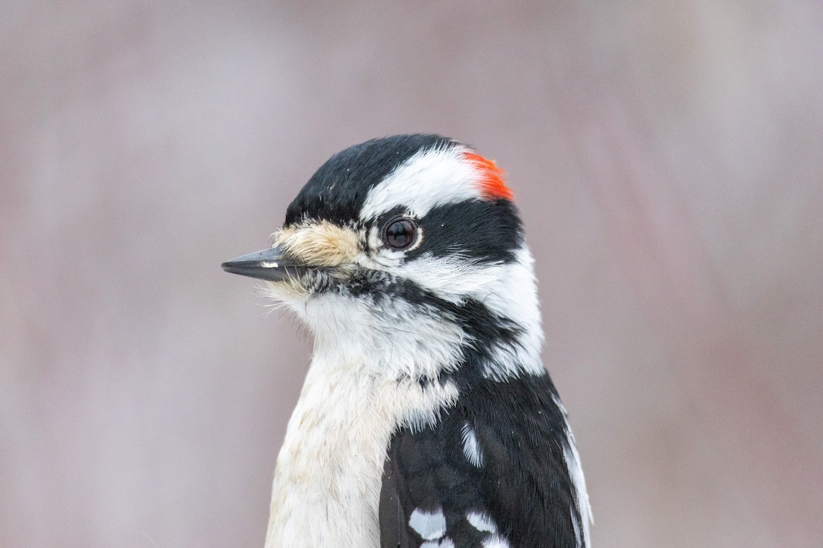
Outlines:
[[277,458],[266,548],[379,546],[388,441],[401,424],[434,421],[453,385],[392,379],[315,353]]

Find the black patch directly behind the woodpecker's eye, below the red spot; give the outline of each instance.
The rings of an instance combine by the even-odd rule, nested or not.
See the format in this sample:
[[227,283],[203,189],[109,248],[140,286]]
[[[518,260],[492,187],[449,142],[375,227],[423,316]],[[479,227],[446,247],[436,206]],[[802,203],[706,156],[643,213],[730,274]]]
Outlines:
[[510,200],[468,200],[432,208],[421,219],[423,243],[407,260],[429,252],[455,253],[481,262],[512,262],[523,245],[523,227]]

